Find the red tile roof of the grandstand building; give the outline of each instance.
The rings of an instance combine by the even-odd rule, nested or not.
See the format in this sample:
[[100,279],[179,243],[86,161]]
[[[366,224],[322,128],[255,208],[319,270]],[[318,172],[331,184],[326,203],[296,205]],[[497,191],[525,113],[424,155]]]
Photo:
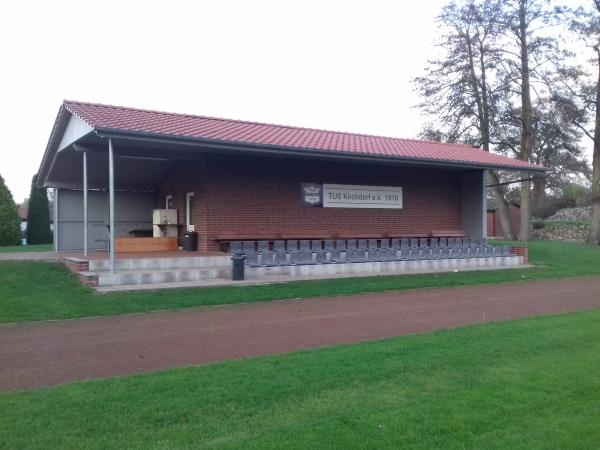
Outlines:
[[148,133],[188,139],[275,146],[326,153],[543,170],[542,167],[462,144],[342,133],[240,120],[65,101],[64,107],[97,131]]

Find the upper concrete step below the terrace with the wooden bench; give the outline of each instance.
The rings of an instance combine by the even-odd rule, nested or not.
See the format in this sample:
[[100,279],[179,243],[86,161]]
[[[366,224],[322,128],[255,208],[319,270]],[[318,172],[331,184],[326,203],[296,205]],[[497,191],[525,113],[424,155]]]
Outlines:
[[[187,256],[187,257],[155,257],[155,258],[118,258],[116,270],[147,270],[147,269],[195,269],[230,267],[231,259],[223,256]],[[104,272],[109,270],[109,262],[90,260],[89,271]]]

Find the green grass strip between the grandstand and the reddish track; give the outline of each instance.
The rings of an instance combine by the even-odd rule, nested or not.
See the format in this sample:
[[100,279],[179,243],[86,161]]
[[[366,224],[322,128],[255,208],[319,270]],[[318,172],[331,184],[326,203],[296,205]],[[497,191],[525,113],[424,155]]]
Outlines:
[[302,281],[153,292],[97,294],[62,265],[0,262],[0,323],[115,315],[161,309],[347,295],[427,287],[600,275],[600,247],[531,242],[532,269]]

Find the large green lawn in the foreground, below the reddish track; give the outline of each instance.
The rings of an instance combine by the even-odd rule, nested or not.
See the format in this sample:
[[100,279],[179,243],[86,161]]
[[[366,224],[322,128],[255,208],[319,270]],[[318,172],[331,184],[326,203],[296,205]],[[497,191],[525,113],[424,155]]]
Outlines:
[[0,448],[597,449],[600,310],[0,395]]

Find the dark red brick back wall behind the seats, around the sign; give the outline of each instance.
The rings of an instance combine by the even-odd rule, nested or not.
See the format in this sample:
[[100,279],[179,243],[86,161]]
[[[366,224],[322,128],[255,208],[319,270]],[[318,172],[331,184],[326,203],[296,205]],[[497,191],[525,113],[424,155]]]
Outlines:
[[[209,155],[174,164],[157,192],[157,205],[164,207],[164,196],[172,195],[183,224],[185,193],[195,192],[200,250],[218,249],[216,238],[223,232],[427,235],[432,229],[461,228],[458,177],[451,170]],[[302,182],[402,186],[403,209],[304,206]]]

